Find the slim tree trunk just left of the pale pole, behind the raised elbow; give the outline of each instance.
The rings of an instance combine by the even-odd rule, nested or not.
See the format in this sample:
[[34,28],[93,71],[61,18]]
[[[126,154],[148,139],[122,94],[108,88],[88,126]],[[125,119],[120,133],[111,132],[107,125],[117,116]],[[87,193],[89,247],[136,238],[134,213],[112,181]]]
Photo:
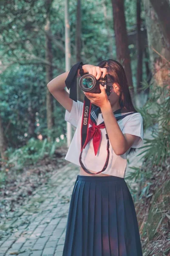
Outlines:
[[[49,83],[53,79],[53,70],[52,70],[52,40],[49,37],[48,34],[51,33],[50,31],[50,8],[51,8],[51,0],[46,0],[46,6],[47,6],[47,18],[46,18],[46,25],[45,25],[45,31],[46,31],[46,50],[45,50],[45,58],[50,63],[50,65],[45,66],[46,70],[46,84]],[[47,88],[47,97],[46,97],[46,107],[47,107],[47,128],[48,131],[50,131],[54,126],[54,118],[53,118],[53,96],[50,93],[50,91]],[[48,141],[50,141],[50,134],[48,134]]]

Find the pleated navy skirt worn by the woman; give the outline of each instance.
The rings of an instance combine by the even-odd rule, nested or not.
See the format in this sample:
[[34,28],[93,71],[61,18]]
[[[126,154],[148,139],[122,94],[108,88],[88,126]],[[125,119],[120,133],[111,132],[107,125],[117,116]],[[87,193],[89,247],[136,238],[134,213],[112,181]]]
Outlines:
[[136,210],[124,178],[77,175],[62,256],[142,256]]

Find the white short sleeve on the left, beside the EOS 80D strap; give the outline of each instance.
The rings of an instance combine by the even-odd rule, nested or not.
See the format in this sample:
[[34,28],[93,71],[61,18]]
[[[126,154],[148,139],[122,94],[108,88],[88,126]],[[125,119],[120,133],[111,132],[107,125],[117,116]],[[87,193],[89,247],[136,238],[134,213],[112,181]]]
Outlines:
[[77,127],[79,119],[82,115],[82,111],[83,111],[83,102],[80,102],[77,100],[77,102],[75,102],[73,100],[73,105],[71,108],[71,112],[69,111],[65,111],[65,121],[71,123],[71,125]]

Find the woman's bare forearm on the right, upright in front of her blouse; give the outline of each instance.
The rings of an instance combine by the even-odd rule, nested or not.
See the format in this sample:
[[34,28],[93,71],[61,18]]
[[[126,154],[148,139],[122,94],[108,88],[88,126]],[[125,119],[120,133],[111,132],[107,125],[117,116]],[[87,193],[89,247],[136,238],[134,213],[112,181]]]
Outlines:
[[101,111],[111,146],[115,154],[121,155],[127,148],[127,142],[113,114],[110,103],[105,105],[105,108],[101,108]]

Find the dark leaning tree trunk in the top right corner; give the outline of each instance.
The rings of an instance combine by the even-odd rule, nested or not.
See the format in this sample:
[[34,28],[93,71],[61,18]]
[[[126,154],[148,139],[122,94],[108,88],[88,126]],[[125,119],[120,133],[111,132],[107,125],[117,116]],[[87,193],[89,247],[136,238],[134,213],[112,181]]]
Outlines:
[[167,48],[170,49],[170,5],[167,0],[150,0],[159,20]]

